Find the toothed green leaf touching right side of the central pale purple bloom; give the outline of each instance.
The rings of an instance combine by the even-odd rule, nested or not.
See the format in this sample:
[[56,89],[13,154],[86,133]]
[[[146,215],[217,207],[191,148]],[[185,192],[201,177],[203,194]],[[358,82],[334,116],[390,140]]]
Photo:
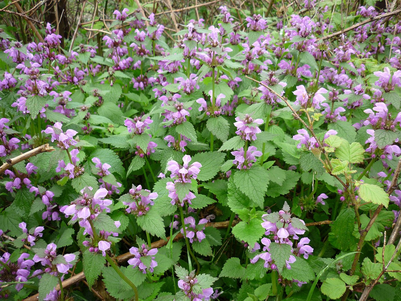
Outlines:
[[[191,162],[201,163],[201,171],[198,174],[199,181],[212,179],[220,170],[226,154],[219,152],[197,153],[192,157]],[[191,163],[190,163],[191,164]]]

